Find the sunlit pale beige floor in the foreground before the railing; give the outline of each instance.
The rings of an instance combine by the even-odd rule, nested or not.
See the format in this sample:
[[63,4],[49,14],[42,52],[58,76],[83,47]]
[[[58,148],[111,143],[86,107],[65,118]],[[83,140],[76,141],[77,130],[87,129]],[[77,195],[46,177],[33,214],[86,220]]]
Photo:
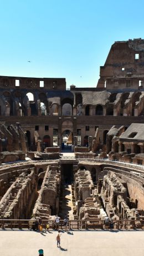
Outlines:
[[61,234],[61,249],[56,247],[56,231],[43,235],[33,231],[0,231],[0,255],[37,256],[143,256],[143,231],[71,231]]

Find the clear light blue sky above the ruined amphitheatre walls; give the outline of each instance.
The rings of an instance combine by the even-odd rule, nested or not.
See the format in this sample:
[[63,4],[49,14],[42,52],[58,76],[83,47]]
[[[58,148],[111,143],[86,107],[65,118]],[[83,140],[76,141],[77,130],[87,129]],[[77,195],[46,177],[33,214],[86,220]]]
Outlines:
[[2,76],[95,87],[111,44],[144,38],[143,0],[0,0],[0,8]]

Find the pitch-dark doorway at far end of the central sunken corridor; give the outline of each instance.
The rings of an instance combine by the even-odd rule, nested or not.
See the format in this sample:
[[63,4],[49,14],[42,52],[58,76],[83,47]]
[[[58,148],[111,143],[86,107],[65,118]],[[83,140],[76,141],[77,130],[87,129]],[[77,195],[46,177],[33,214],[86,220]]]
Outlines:
[[61,173],[65,184],[73,182],[73,164],[61,164]]

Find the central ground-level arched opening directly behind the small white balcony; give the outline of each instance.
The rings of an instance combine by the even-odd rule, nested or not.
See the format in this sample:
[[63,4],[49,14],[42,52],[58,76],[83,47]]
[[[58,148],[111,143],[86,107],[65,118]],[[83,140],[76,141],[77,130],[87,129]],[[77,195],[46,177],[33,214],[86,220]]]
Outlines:
[[73,133],[70,130],[64,130],[61,137],[61,151],[71,152],[71,145],[73,145]]

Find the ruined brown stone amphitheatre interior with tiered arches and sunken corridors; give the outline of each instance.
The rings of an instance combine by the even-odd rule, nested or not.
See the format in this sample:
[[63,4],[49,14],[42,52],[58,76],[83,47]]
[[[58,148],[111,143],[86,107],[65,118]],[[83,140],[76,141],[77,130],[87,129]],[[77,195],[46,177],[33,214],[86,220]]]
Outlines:
[[144,219],[143,82],[141,38],[112,45],[95,88],[1,76],[1,219]]

